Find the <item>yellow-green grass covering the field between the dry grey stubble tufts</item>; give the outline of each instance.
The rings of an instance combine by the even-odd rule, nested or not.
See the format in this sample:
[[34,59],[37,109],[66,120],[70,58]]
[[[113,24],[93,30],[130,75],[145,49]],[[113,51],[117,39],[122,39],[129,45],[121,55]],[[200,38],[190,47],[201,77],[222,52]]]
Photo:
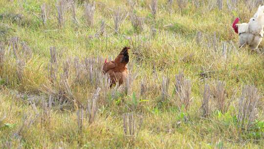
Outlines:
[[[237,9],[232,12],[226,4],[223,10],[216,6],[209,11],[207,3],[205,7],[196,8],[188,2],[180,11],[174,0],[174,10],[170,14],[166,8],[167,0],[158,0],[154,18],[149,7],[151,0],[137,0],[134,12],[146,18],[144,30],[135,33],[130,17],[127,17],[120,25],[119,34],[115,34],[112,29],[113,10],[120,6],[123,11],[129,11],[127,0],[95,0],[93,28],[85,23],[81,1],[76,4],[80,24],[73,23],[71,10],[67,9],[65,25],[59,28],[54,0],[0,0],[0,41],[5,50],[3,67],[0,67],[0,120],[6,116],[0,121],[0,147],[8,148],[11,144],[11,149],[260,149],[264,146],[262,96],[257,106],[258,123],[244,130],[237,121],[238,100],[243,86],[255,85],[259,95],[264,93],[263,43],[260,52],[250,51],[247,47],[239,49],[238,36],[231,27],[235,17],[247,22],[257,7],[251,12],[240,0]],[[46,25],[41,20],[41,5],[44,2],[50,8]],[[16,18],[18,15],[21,17]],[[102,20],[107,24],[106,33],[94,37]],[[151,37],[152,28],[157,29],[154,37]],[[196,43],[198,31],[203,36],[200,44]],[[214,32],[217,51],[212,46]],[[16,58],[9,42],[15,36],[32,50],[32,57],[25,61],[22,80],[17,75]],[[226,59],[222,56],[223,42],[227,43]],[[131,84],[131,91],[126,95],[122,90],[102,89],[95,121],[89,124],[85,119],[80,131],[76,112],[87,104],[87,99],[91,99],[96,85],[88,80],[76,81],[72,63],[67,79],[72,96],[64,97],[60,102],[59,96],[55,95],[65,91],[60,82],[65,60],[69,58],[73,61],[78,57],[82,63],[86,57],[99,56],[103,62],[105,58],[114,58],[124,46],[132,48],[129,71],[137,75]],[[55,83],[50,82],[48,76],[50,47],[56,47],[59,54],[58,80]],[[192,101],[187,110],[178,105],[175,96],[175,75],[179,71],[192,81]],[[212,72],[208,78],[200,76],[207,71]],[[162,102],[161,82],[164,76],[170,78],[170,84],[169,97]],[[141,95],[143,79],[146,91]],[[235,99],[226,113],[218,111],[217,103],[212,101],[209,117],[203,118],[204,83],[212,87],[218,80],[226,84],[227,99],[231,98],[233,90],[237,90]],[[43,114],[42,100],[48,101],[50,95],[53,95],[54,103],[47,119]],[[141,128],[132,140],[124,135],[123,130],[123,114],[127,112],[143,117]],[[27,121],[35,118],[34,123],[24,122],[25,115],[32,116],[25,119]],[[139,116],[135,117],[138,125]],[[19,131],[23,123],[28,127],[24,126]],[[16,132],[19,134],[15,135]]]

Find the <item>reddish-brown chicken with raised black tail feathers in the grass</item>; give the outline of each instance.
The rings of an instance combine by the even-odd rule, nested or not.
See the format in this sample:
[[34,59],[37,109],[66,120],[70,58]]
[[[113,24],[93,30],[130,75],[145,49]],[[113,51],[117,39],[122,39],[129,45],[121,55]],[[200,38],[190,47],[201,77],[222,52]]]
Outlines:
[[126,66],[129,62],[129,49],[129,47],[125,47],[113,61],[105,61],[103,72],[104,74],[109,74],[111,80],[110,86],[116,84],[117,82],[119,85],[121,85],[126,80],[126,77],[129,74],[128,68]]

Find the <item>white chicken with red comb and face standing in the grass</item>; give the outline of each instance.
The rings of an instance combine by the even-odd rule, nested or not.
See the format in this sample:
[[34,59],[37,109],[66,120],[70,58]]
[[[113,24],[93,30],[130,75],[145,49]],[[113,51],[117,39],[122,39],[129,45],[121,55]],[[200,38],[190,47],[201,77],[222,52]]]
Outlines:
[[239,19],[233,23],[233,28],[239,34],[239,46],[249,45],[251,50],[259,47],[263,38],[264,27],[264,5],[259,6],[258,11],[248,23],[237,24]]

